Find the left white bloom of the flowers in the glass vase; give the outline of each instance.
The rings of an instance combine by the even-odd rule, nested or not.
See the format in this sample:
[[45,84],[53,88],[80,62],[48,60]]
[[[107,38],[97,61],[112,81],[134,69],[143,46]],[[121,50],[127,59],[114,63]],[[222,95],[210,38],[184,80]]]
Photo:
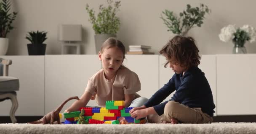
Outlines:
[[234,33],[236,32],[235,25],[228,25],[221,29],[221,33],[219,34],[219,39],[224,42],[231,41],[235,38]]

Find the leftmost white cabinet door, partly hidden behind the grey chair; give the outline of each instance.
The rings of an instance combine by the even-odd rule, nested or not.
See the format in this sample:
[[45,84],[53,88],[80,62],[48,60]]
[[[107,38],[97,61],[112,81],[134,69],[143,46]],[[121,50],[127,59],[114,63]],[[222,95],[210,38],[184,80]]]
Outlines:
[[[19,107],[15,116],[44,115],[44,56],[1,56],[11,59],[9,76],[19,79],[17,99]],[[11,101],[0,102],[0,116],[9,116]]]

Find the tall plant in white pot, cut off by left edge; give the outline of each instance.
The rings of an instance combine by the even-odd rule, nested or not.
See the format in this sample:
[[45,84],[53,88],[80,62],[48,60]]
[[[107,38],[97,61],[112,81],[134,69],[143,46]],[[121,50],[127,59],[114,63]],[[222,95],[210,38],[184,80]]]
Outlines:
[[0,55],[5,55],[8,50],[9,39],[6,36],[13,29],[12,23],[17,15],[17,12],[9,13],[10,7],[9,0],[0,2]]

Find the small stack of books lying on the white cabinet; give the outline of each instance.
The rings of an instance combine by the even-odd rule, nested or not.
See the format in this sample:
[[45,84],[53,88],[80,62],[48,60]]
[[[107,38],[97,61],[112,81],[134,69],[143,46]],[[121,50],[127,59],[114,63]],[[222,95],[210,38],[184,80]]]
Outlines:
[[127,54],[155,54],[154,52],[149,52],[149,49],[151,49],[151,46],[131,45]]

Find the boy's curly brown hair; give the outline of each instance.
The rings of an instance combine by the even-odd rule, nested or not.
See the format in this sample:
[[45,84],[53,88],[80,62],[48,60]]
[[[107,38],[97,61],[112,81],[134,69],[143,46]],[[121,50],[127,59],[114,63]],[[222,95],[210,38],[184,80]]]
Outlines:
[[168,60],[164,67],[167,67],[169,62],[186,68],[200,64],[199,50],[192,37],[175,36],[163,46],[159,53]]

